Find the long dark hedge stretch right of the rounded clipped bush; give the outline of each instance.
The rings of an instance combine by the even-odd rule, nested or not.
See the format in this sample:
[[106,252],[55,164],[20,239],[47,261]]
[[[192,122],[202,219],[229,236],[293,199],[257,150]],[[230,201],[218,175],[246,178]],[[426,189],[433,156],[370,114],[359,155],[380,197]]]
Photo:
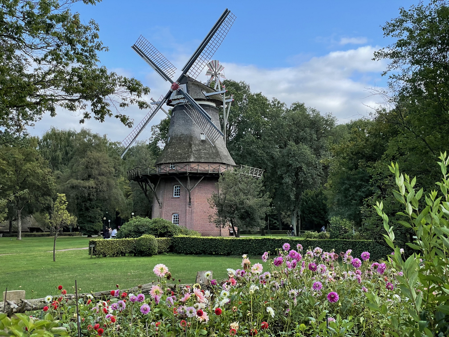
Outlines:
[[302,244],[304,251],[308,248],[320,247],[323,251],[336,253],[346,252],[352,249],[352,256],[359,257],[362,252],[368,251],[371,260],[385,259],[391,253],[391,248],[378,244],[372,240],[342,240],[342,239],[295,239],[291,237],[194,237],[173,236],[173,251],[179,254],[207,254],[207,255],[262,255],[264,252],[276,252],[284,243],[289,243],[291,249],[296,249],[297,244]]

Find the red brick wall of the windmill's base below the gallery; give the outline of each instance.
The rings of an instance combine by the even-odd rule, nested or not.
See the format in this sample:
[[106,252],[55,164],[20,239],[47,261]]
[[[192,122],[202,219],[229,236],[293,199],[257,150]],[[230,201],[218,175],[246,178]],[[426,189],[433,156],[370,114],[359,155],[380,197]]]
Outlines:
[[[188,186],[187,177],[179,177],[184,186]],[[194,186],[199,177],[190,178],[190,186]],[[161,177],[156,194],[162,204],[159,207],[158,201],[153,200],[153,218],[162,217],[172,221],[174,213],[179,214],[180,226],[186,226],[189,229],[200,232],[204,236],[229,236],[228,229],[221,229],[215,226],[215,223],[209,220],[209,216],[215,213],[210,207],[208,199],[213,192],[216,192],[216,182],[218,177],[204,177],[202,181],[191,192],[191,204],[189,205],[189,193],[181,185],[179,197],[173,196],[173,186],[180,183],[173,177]]]

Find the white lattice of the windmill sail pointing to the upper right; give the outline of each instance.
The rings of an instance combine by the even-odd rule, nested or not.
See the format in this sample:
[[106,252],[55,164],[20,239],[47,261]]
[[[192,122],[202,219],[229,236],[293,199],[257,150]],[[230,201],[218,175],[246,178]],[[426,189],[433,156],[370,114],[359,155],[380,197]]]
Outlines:
[[[236,18],[235,15],[229,11],[229,14],[226,16],[223,23],[221,23],[220,27],[218,27],[215,34],[211,37],[209,42],[207,42],[206,47],[202,49],[202,52],[199,54],[198,58],[186,72],[186,74],[189,77],[195,80],[198,77],[198,75],[203,71],[204,67],[206,67],[207,62],[211,60],[211,58],[217,51],[218,47],[220,47],[220,44],[225,39],[226,34],[228,34],[229,29],[231,29],[231,26],[235,21],[235,18]],[[184,70],[185,66],[183,68],[183,71]]]

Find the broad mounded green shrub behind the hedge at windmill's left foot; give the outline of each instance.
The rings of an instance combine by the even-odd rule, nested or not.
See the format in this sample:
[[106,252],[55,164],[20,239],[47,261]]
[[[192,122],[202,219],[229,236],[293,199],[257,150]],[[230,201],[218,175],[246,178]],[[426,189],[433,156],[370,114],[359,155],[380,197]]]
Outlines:
[[117,239],[139,238],[144,234],[154,235],[156,238],[171,238],[174,235],[200,236],[197,231],[182,226],[173,225],[172,222],[160,217],[133,217],[123,224],[117,233]]

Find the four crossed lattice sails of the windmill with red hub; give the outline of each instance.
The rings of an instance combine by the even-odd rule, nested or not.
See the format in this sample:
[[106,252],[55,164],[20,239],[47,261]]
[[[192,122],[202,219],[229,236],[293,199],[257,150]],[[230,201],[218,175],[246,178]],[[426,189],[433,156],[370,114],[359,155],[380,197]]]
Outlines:
[[219,137],[224,136],[220,127],[211,120],[211,116],[202,108],[202,106],[187,93],[186,87],[183,84],[187,84],[189,80],[195,80],[203,71],[207,62],[211,60],[216,50],[225,39],[225,36],[234,21],[235,15],[231,13],[229,9],[225,9],[204,40],[202,40],[201,44],[185,63],[177,80],[173,80],[176,67],[173,66],[173,64],[142,35],[136,43],[132,45],[132,49],[134,49],[136,53],[139,54],[139,56],[143,58],[144,61],[147,62],[164,80],[169,81],[171,86],[165,96],[161,96],[158,101],[153,102],[154,107],[150,109],[144,119],[136,125],[132,132],[121,142],[120,146],[117,147],[117,151],[121,158],[123,158],[132,144],[136,141],[139,134],[150,123],[154,115],[156,115],[159,109],[161,109],[171,97],[180,98],[180,96],[182,96],[180,102],[184,103],[185,113],[198,128],[201,129],[202,133],[212,144],[215,144]]

